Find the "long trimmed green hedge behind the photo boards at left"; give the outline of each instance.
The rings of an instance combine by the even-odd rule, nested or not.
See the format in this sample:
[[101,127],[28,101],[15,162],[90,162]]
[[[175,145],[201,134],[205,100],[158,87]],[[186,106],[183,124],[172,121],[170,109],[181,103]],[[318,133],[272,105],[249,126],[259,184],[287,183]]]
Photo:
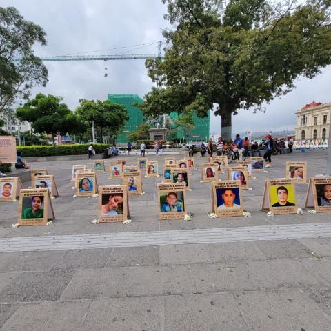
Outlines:
[[[59,155],[83,155],[88,154],[89,143],[60,145],[60,146],[17,146],[21,150],[22,157],[50,157]],[[108,143],[94,143],[93,147],[96,154],[104,153]]]

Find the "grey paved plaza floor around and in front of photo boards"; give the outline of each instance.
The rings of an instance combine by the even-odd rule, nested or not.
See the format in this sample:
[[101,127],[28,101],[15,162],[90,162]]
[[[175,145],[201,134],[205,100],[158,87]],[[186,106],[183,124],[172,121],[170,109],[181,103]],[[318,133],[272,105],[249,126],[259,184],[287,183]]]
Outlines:
[[[143,177],[146,194],[129,197],[128,225],[92,224],[98,199],[72,197],[72,165],[92,161],[32,163],[54,174],[56,219],[12,228],[18,202],[0,204],[0,330],[330,331],[331,214],[260,210],[265,179],[285,177],[286,161],[307,161],[309,178],[325,172],[326,154],[273,157],[243,191],[251,217],[218,219],[208,218],[211,183],[200,182],[206,158],[197,157],[186,196],[192,221],[158,221],[162,177]],[[149,159],[161,166],[164,157]],[[108,179],[111,161],[99,185],[121,183]],[[296,184],[301,208],[307,187]]]

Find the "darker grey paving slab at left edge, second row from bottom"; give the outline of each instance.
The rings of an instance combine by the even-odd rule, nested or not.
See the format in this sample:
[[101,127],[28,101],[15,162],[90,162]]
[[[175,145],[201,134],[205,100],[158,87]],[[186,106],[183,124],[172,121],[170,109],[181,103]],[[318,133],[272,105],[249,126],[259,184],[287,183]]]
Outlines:
[[23,272],[0,291],[0,302],[57,300],[73,271]]

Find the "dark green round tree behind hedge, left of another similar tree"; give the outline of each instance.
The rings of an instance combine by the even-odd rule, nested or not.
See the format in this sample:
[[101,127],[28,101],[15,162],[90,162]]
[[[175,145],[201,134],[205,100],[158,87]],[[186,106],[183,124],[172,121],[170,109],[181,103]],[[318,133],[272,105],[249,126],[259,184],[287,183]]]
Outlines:
[[34,99],[17,108],[16,116],[21,121],[32,123],[34,132],[52,134],[54,144],[57,133],[66,134],[70,130],[67,117],[70,117],[72,112],[65,103],[61,103],[62,100],[62,97],[39,93]]

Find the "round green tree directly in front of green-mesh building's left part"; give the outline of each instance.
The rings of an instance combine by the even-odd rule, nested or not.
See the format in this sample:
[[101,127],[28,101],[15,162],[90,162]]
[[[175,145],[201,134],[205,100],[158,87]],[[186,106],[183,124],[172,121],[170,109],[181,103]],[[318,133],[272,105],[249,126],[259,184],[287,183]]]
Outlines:
[[[113,103],[110,100],[79,100],[80,106],[76,109],[76,114],[82,121],[94,121],[94,126],[100,132],[99,140],[102,142],[103,130],[108,129],[108,136],[116,136],[124,123],[128,121],[128,110],[123,105]],[[89,124],[90,125],[90,124]]]

